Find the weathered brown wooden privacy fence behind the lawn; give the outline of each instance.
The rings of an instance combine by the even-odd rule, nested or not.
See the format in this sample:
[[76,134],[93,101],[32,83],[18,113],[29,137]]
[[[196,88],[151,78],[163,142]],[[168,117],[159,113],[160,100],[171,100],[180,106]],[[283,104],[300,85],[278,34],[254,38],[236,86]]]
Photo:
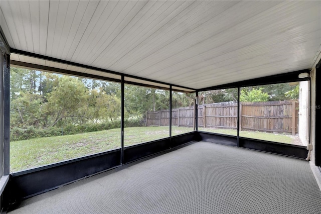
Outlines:
[[[298,100],[241,102],[240,130],[291,133],[298,131]],[[172,125],[194,127],[194,106],[172,110]],[[170,112],[148,112],[146,126],[169,126]],[[198,106],[199,127],[237,129],[237,103]]]

